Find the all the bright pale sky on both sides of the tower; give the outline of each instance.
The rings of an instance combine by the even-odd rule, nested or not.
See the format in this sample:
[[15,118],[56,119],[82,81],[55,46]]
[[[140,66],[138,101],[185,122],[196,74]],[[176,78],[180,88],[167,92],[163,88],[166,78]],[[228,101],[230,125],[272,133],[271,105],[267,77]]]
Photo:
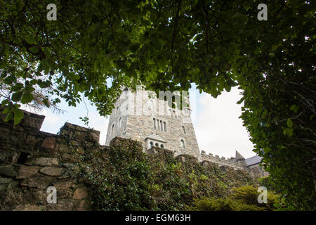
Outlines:
[[[249,141],[249,134],[242,126],[242,119],[238,118],[242,115],[242,104],[237,105],[237,101],[242,97],[240,92],[237,87],[233,87],[229,93],[223,91],[220,96],[213,98],[206,93],[199,94],[195,85],[192,86],[189,91],[193,110],[191,117],[200,151],[204,150],[206,153],[225,158],[235,157],[235,150],[244,158],[256,155],[252,151],[254,145]],[[62,102],[60,108],[67,112],[60,114],[48,109],[36,112],[46,116],[41,131],[56,134],[65,122],[86,127],[79,117],[84,117],[88,113],[88,127],[100,131],[100,144],[104,145],[110,116],[101,117],[96,107],[87,99],[85,103],[81,102],[74,108]]]

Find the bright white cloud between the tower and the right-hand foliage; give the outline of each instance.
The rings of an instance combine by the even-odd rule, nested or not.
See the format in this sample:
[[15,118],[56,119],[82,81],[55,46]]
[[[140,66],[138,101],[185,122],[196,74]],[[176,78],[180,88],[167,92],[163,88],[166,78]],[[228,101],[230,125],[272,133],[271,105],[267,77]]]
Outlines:
[[200,150],[225,158],[235,157],[235,150],[244,158],[256,155],[242,119],[238,118],[242,114],[242,105],[237,105],[239,92],[235,87],[217,98],[209,94],[197,98],[195,133]]

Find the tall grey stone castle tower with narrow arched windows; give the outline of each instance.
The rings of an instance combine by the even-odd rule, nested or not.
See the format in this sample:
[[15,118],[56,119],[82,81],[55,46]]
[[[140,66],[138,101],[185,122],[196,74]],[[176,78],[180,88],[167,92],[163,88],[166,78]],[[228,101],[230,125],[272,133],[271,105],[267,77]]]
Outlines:
[[[172,98],[185,106],[172,108]],[[190,117],[188,96],[171,94],[170,91],[145,91],[138,86],[136,91],[122,89],[114,103],[107,127],[105,145],[114,137],[141,141],[145,152],[152,146],[172,150],[175,155],[188,154],[199,158],[199,147]],[[183,101],[186,100],[186,101]]]

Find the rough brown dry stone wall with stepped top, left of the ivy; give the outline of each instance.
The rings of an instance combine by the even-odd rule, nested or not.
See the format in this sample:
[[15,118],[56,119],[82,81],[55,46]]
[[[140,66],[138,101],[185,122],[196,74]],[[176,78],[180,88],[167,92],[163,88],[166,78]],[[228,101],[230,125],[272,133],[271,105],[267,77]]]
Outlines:
[[[48,134],[39,131],[44,116],[24,113],[18,125],[0,113],[0,210],[88,210],[74,153],[96,148],[100,132],[66,123],[59,135]],[[55,204],[47,202],[50,186]]]

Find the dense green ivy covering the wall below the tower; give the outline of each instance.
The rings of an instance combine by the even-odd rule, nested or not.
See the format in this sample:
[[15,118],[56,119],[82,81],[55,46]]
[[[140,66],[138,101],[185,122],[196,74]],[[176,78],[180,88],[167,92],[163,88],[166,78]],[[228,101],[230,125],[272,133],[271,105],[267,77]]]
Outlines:
[[205,168],[189,157],[179,162],[169,150],[147,155],[140,143],[118,140],[81,157],[94,210],[186,210],[194,198],[223,197],[235,186],[255,184],[247,172]]

